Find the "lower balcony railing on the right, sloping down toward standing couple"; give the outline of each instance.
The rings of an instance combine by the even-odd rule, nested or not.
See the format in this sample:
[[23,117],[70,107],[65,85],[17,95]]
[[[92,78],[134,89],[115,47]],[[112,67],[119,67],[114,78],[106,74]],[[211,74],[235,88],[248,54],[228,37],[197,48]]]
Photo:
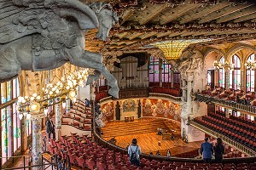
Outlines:
[[233,146],[234,148],[236,148],[236,150],[239,150],[239,151],[247,154],[247,156],[256,156],[256,151],[248,148],[247,146],[245,146],[241,143],[236,142],[233,139],[230,139],[230,138],[226,137],[224,134],[217,133],[216,131],[214,131],[214,130],[208,128],[208,127],[204,127],[201,124],[199,124],[197,122],[194,122],[194,121],[190,121],[189,125],[198,128],[202,132],[207,133],[207,134],[211,135],[214,138],[223,139],[225,144],[229,144],[229,145]]

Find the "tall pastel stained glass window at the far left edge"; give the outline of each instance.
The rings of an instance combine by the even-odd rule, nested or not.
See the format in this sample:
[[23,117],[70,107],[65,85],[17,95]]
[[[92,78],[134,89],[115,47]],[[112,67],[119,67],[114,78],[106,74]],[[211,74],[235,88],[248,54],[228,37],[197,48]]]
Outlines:
[[[1,83],[1,103],[6,103],[12,99],[20,96],[20,83],[16,78],[10,82]],[[14,101],[15,102],[15,101]],[[16,104],[4,106],[1,109],[1,147],[0,157],[2,159],[2,165],[8,160],[10,156],[14,155],[14,152],[21,146],[21,123],[18,115],[16,114]]]

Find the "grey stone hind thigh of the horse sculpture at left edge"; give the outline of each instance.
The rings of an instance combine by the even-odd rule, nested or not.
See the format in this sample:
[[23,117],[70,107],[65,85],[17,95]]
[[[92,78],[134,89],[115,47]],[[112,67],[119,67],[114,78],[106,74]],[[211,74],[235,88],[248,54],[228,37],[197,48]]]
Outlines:
[[0,48],[0,82],[9,82],[19,77],[21,65],[16,59],[14,48]]

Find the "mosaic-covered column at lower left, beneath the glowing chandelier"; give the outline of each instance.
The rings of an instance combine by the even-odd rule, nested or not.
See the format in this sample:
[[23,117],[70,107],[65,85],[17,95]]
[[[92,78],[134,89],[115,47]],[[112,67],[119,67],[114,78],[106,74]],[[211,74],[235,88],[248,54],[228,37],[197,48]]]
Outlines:
[[[44,118],[44,113],[33,114],[31,116],[32,120],[32,165],[42,164],[42,118]],[[41,169],[40,166],[32,167],[33,170]]]

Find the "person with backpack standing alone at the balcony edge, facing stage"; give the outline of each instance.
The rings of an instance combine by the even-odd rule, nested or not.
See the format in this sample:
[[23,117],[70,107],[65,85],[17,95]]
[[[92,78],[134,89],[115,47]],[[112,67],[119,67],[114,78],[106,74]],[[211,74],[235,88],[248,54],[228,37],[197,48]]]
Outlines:
[[140,165],[141,148],[137,145],[137,139],[132,139],[131,145],[128,147],[128,155],[131,165]]

